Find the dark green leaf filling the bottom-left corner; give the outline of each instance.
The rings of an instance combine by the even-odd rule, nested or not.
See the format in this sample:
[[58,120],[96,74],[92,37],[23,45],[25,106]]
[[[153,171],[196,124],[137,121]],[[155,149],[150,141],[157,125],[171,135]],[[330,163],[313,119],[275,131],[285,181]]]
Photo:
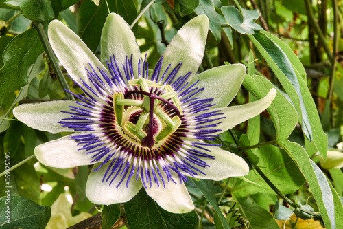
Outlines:
[[[5,206],[0,211],[1,228],[45,228],[51,216],[49,206],[40,206],[24,197],[11,196],[9,199],[7,198],[8,196],[5,196],[0,199],[0,206]],[[7,217],[6,210],[8,208],[10,208],[10,217]]]

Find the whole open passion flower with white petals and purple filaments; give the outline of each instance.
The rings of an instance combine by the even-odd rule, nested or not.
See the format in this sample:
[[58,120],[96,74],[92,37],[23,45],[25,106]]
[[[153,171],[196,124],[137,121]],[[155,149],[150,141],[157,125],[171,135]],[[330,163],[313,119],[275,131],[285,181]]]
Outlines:
[[16,118],[51,133],[76,132],[36,146],[46,166],[94,164],[86,195],[95,204],[129,201],[143,187],[170,212],[193,210],[187,177],[221,180],[248,173],[244,160],[211,140],[266,109],[270,93],[227,107],[246,74],[244,65],[196,75],[209,30],[206,16],[182,27],[154,69],[128,24],[110,14],[102,30],[102,62],[60,21],[49,25],[56,56],[84,94],[75,101],[20,105]]

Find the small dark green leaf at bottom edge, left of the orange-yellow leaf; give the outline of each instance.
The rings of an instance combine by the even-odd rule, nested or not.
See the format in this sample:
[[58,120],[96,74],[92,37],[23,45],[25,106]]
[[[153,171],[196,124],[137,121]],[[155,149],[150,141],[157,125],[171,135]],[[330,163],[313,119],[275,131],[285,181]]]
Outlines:
[[268,211],[261,208],[251,199],[239,199],[238,204],[239,209],[242,212],[242,215],[244,215],[244,217],[246,217],[246,219],[249,221],[250,228],[280,228],[278,223],[276,223],[275,219],[272,217],[272,215],[270,215]]

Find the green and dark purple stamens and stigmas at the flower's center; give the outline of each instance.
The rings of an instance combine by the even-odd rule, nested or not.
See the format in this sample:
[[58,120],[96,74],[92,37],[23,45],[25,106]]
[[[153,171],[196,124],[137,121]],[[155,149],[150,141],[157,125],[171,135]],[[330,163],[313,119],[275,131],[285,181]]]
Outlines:
[[[113,94],[117,124],[125,135],[139,142],[141,146],[150,149],[158,147],[182,123],[180,100],[170,85],[161,85],[145,78],[129,80],[128,83],[131,86],[140,86],[142,90],[128,91],[125,95],[121,92]],[[155,87],[163,87],[165,93],[157,96],[150,92]],[[139,99],[130,99],[129,96],[133,94]],[[171,109],[174,109],[174,112],[171,112]]]

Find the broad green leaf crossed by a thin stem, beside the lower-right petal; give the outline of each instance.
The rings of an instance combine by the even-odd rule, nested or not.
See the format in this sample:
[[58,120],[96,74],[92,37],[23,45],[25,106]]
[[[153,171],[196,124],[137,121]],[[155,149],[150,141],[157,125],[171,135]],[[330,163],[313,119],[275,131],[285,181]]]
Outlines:
[[[291,157],[285,151],[276,146],[263,146],[255,151],[259,157],[257,166],[265,173],[270,181],[281,191],[281,193],[294,193],[303,186],[305,179],[299,169],[294,166]],[[237,196],[246,197],[255,193],[274,194],[274,190],[253,170],[250,170],[246,179],[259,184],[259,186],[239,179],[233,187],[233,192]]]

